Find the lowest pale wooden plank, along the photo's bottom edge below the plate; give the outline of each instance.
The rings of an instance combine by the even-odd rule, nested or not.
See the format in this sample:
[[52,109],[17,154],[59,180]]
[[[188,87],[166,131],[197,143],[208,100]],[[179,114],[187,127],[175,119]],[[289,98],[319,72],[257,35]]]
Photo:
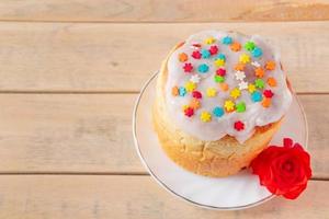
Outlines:
[[325,219],[329,215],[328,186],[328,181],[310,181],[294,201],[274,198],[243,211],[216,211],[178,199],[150,176],[1,175],[0,217]]

